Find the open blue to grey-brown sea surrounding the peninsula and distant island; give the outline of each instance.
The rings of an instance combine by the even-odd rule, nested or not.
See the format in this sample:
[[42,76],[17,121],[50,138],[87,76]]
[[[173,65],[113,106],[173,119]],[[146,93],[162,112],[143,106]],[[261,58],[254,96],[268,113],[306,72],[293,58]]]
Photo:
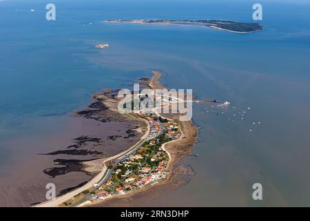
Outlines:
[[[56,21],[45,20],[46,3],[0,1],[0,159],[7,159],[1,164],[11,154],[2,142],[53,133],[92,93],[157,68],[169,88],[193,88],[200,99],[231,106],[194,107],[199,157],[183,162],[197,174],[152,204],[310,205],[307,1],[262,1],[265,30],[250,35],[101,21],[252,21],[254,1],[54,1]],[[101,43],[110,48],[94,48]],[[254,182],[266,188],[262,202],[251,199]]]

